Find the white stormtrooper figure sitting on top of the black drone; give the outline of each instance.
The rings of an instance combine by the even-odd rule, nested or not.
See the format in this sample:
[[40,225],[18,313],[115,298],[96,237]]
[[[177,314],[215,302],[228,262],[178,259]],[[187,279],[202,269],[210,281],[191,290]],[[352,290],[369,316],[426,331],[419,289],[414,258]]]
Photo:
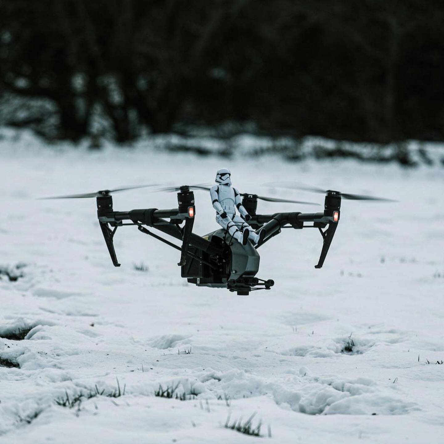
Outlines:
[[[256,234],[248,225],[247,221],[251,219],[251,216],[242,206],[239,191],[231,186],[230,170],[228,168],[218,170],[215,181],[216,185],[210,189],[210,195],[213,208],[216,210],[216,222],[242,245],[246,245],[248,239],[254,245],[262,242],[265,232],[261,231],[260,234]],[[236,215],[236,208],[242,218]]]

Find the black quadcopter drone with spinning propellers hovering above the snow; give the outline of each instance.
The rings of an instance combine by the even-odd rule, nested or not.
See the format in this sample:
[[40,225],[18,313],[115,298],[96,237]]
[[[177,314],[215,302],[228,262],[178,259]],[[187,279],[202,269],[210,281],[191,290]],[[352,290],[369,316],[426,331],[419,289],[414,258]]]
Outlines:
[[[258,248],[270,241],[274,236],[280,234],[282,229],[293,228],[294,230],[301,230],[303,228],[317,228],[319,230],[322,236],[322,249],[317,265],[315,265],[315,268],[319,269],[324,264],[341,218],[342,198],[394,202],[391,199],[300,186],[296,182],[273,182],[266,185],[325,194],[324,211],[317,213],[278,212],[274,214],[258,214],[258,200],[317,204],[242,193],[242,205],[251,216],[249,220],[250,226],[255,230],[264,230],[265,232],[265,236],[261,236],[261,242],[257,245],[253,245],[251,242],[243,245],[230,237],[224,229],[215,230],[204,236],[199,236],[193,232],[196,215],[194,191],[209,191],[210,188],[205,186],[205,184],[159,189],[158,191],[177,193],[177,207],[166,210],[143,208],[116,211],[113,208],[111,194],[157,185],[127,186],[114,190],[100,190],[94,193],[71,194],[44,199],[95,198],[100,229],[111,256],[111,261],[115,267],[120,266],[113,242],[116,230],[122,226],[137,226],[141,233],[147,234],[180,251],[178,266],[181,267],[181,276],[186,278],[189,283],[197,286],[226,288],[231,292],[237,292],[238,295],[248,295],[250,291],[258,289],[270,289],[274,285],[272,279],[264,280],[256,277],[260,261]],[[182,244],[180,246],[176,245],[159,234],[153,233],[148,228],[155,229],[170,238],[177,239]]]

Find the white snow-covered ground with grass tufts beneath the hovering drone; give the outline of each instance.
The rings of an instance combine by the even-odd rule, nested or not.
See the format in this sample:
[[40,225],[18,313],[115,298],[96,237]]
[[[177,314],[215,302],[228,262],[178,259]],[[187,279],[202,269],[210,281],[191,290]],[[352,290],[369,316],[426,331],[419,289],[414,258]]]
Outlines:
[[[0,140],[1,443],[444,441],[441,168],[41,144],[26,132]],[[283,230],[259,250],[258,276],[275,286],[245,297],[188,285],[179,253],[135,227],[117,231],[115,268],[94,199],[35,199],[212,182],[222,166],[244,192],[323,202],[261,186],[296,180],[400,202],[344,200],[321,270],[317,230]],[[210,197],[195,195],[203,235],[217,226]],[[116,210],[175,205],[149,189],[114,197]],[[159,385],[186,400],[154,396]],[[67,396],[72,408],[58,405]],[[255,412],[263,438],[224,427]]]

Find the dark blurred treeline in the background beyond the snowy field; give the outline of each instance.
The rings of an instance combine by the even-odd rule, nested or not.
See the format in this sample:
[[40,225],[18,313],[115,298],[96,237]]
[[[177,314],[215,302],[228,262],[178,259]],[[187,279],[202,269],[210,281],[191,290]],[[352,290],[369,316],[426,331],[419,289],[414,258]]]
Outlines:
[[101,113],[119,141],[229,120],[444,139],[444,2],[0,0],[0,88],[54,103],[60,138]]

